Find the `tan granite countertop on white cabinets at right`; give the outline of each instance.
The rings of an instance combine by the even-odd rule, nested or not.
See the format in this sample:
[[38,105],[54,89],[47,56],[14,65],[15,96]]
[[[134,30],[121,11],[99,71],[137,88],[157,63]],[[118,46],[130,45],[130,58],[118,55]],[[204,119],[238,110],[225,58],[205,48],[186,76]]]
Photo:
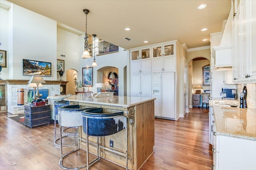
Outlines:
[[256,141],[256,109],[213,105],[216,134]]

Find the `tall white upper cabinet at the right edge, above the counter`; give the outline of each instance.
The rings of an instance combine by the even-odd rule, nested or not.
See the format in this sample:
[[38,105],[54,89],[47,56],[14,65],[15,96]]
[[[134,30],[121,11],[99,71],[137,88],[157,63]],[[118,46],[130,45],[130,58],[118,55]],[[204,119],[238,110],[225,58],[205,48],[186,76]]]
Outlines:
[[256,80],[256,2],[241,0],[232,25],[233,81]]

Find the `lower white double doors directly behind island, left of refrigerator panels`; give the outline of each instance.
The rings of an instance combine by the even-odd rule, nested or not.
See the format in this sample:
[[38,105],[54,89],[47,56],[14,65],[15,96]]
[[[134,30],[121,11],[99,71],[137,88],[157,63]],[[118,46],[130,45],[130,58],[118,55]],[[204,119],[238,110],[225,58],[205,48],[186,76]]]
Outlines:
[[131,95],[151,96],[151,74],[131,75]]

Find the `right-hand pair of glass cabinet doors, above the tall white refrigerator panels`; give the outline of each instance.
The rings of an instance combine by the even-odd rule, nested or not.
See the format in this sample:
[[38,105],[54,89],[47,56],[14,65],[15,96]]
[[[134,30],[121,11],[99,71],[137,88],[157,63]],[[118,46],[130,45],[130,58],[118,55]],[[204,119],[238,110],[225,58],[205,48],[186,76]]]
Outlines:
[[153,59],[156,59],[157,57],[174,56],[174,43],[153,46],[152,56]]

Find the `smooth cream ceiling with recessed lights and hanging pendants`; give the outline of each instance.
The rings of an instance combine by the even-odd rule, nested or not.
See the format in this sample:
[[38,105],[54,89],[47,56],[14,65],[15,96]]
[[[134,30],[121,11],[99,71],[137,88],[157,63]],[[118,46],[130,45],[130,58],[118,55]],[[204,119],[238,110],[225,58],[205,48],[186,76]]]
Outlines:
[[[88,9],[87,33],[124,49],[176,39],[189,49],[208,46],[210,33],[222,31],[231,9],[231,0],[8,1],[83,32],[83,9]],[[197,6],[203,3],[207,8],[198,10]],[[126,27],[131,30],[125,31]],[[200,31],[202,28],[208,30]]]

